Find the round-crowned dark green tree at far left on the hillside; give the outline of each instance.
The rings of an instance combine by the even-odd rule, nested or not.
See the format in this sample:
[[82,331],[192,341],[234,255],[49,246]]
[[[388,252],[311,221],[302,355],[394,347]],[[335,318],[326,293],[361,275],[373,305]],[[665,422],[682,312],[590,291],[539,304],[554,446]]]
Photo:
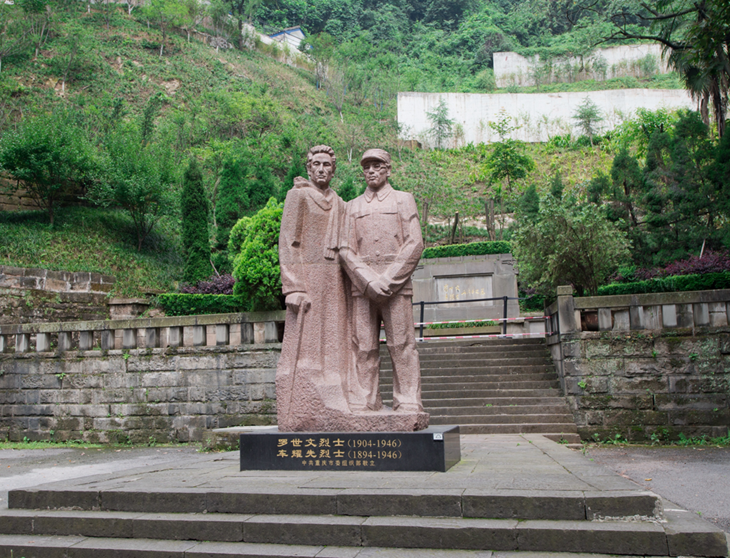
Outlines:
[[1,140],[0,169],[15,180],[15,191],[24,189],[48,213],[52,225],[58,200],[74,185],[90,186],[98,173],[86,131],[62,110],[26,118]]

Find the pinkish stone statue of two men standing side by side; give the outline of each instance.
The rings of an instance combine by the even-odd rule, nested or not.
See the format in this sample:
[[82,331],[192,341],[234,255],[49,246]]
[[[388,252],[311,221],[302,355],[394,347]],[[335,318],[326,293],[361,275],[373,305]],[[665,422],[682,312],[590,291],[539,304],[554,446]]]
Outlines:
[[[412,431],[420,399],[411,275],[423,251],[411,194],[388,183],[391,156],[367,150],[367,188],[350,202],[329,188],[337,158],[307,153],[284,203],[279,260],[286,324],[277,368],[280,432]],[[393,408],[380,397],[380,321],[393,362]]]

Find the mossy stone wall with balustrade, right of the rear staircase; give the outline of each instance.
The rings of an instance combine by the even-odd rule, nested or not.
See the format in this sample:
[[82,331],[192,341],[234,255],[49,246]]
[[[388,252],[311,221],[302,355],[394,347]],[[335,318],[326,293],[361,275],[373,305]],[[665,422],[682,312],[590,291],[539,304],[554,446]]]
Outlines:
[[574,299],[561,289],[548,346],[583,439],[727,435],[730,291]]

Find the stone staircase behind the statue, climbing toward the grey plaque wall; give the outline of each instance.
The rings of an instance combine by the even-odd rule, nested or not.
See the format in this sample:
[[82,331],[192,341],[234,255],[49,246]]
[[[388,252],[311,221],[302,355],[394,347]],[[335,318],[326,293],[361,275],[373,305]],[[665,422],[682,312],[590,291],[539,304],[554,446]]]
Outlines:
[[[542,339],[431,341],[418,344],[423,406],[430,424],[458,424],[462,434],[542,434],[580,443]],[[380,350],[385,405],[393,370]]]

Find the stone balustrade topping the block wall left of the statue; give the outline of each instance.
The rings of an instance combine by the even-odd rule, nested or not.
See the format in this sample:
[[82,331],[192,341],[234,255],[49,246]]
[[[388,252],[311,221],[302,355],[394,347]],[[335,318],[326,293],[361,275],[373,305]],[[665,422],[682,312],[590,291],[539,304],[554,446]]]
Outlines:
[[0,352],[278,343],[284,311],[0,326]]

